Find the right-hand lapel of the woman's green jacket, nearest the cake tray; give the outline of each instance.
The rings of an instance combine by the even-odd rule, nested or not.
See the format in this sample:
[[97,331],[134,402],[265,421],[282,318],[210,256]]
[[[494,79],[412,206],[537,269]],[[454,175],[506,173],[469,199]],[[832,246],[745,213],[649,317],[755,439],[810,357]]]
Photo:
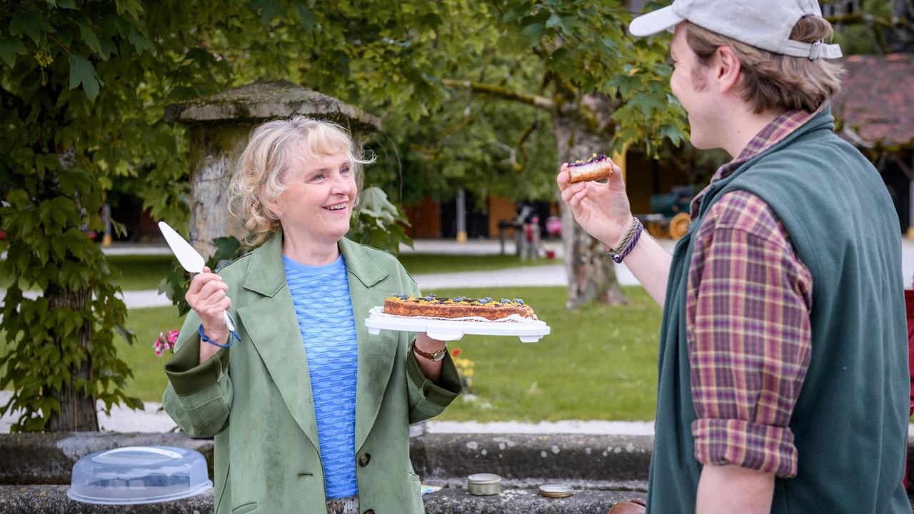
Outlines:
[[356,451],[362,447],[375,424],[377,412],[387,389],[399,337],[371,336],[365,327],[368,310],[383,304],[387,292],[371,288],[384,280],[388,273],[371,259],[362,245],[340,240],[349,279],[352,313],[356,320],[358,340],[358,374],[356,379]]

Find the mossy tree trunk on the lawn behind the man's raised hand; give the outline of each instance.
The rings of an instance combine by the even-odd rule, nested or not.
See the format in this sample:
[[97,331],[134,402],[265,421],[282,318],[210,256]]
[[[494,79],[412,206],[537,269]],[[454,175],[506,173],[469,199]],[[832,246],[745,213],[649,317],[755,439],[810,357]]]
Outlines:
[[[584,97],[591,112],[600,117],[609,117],[612,112],[611,100],[603,95]],[[581,121],[579,116],[567,116],[558,112],[553,117],[558,139],[558,161],[574,162],[587,159],[593,154],[607,154],[610,141],[605,135]],[[599,120],[598,120],[599,121]],[[571,209],[561,198],[558,206],[562,215],[562,241],[565,249],[565,272],[569,278],[569,309],[590,302],[621,305],[627,302],[625,294],[616,280],[615,267],[605,246],[590,237],[574,220]]]

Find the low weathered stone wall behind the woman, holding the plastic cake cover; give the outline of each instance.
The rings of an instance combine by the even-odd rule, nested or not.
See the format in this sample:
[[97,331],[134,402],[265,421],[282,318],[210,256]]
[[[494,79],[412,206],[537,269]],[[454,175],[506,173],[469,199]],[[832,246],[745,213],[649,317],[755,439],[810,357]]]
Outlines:
[[[410,442],[422,483],[445,487],[423,497],[428,514],[605,514],[618,501],[645,497],[654,443],[651,436],[579,434],[422,434]],[[193,448],[212,466],[212,441],[184,434],[0,434],[0,514],[212,513],[212,491],[138,506],[67,498],[70,470],[80,457],[133,445]],[[910,454],[909,447],[909,462]],[[501,476],[501,494],[470,495],[466,478],[474,473]],[[576,492],[542,498],[537,487],[547,483]]]

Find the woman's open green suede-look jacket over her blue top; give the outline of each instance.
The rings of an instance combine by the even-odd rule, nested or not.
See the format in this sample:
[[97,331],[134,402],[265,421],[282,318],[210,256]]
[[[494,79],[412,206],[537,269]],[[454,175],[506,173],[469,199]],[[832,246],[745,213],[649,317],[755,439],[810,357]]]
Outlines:
[[[359,510],[424,512],[409,462],[409,423],[439,414],[461,391],[451,356],[440,384],[409,351],[413,334],[369,335],[368,310],[419,294],[396,258],[339,241],[356,320],[356,479]],[[216,513],[326,512],[311,378],[282,264],[282,232],[219,271],[241,340],[198,364],[199,317],[181,328],[165,365],[165,412],[191,437],[215,436]],[[229,359],[230,355],[230,359]],[[230,360],[230,365],[229,365]]]

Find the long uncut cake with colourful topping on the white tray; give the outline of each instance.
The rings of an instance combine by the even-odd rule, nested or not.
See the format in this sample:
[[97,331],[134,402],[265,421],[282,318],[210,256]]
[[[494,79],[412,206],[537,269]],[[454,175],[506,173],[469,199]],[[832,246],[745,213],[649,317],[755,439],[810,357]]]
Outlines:
[[416,297],[406,294],[388,296],[384,300],[384,314],[393,316],[423,316],[440,318],[483,317],[489,320],[503,319],[516,315],[537,319],[530,305],[524,300],[503,298],[495,301],[492,298],[439,298],[435,294]]

